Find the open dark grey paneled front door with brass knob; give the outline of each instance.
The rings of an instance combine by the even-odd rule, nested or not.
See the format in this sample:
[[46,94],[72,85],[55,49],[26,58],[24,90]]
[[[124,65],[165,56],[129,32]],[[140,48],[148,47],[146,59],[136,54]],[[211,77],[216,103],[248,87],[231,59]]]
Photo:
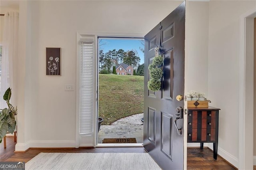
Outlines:
[[[163,169],[183,169],[185,2],[145,36],[144,148]],[[159,46],[164,59],[162,88],[148,90],[148,65]],[[177,99],[176,99],[177,97]],[[176,124],[176,125],[175,125]]]

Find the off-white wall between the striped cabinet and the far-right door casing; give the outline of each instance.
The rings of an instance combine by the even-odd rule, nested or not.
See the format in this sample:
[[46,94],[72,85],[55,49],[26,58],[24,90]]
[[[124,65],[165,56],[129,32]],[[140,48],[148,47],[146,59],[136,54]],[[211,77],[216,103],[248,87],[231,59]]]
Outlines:
[[[238,167],[239,17],[256,1],[210,1],[209,99],[221,109],[218,154]],[[252,127],[253,128],[253,127]]]

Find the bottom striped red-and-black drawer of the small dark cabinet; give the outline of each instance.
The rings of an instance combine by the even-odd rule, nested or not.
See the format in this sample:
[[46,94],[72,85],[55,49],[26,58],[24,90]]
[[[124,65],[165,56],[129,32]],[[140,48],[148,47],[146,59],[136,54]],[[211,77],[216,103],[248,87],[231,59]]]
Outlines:
[[215,128],[188,128],[189,141],[215,141]]

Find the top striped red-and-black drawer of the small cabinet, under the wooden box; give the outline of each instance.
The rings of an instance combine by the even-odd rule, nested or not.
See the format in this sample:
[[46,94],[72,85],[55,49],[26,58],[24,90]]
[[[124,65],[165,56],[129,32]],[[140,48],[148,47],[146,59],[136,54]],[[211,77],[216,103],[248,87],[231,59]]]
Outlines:
[[216,119],[216,111],[188,111],[188,119]]

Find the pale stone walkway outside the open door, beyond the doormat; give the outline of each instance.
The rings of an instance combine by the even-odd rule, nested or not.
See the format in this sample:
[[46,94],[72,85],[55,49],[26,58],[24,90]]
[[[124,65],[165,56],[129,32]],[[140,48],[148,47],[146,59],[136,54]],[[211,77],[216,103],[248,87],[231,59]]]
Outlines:
[[143,143],[143,113],[119,119],[112,125],[101,125],[98,133],[98,143],[104,138],[136,138],[137,143]]

